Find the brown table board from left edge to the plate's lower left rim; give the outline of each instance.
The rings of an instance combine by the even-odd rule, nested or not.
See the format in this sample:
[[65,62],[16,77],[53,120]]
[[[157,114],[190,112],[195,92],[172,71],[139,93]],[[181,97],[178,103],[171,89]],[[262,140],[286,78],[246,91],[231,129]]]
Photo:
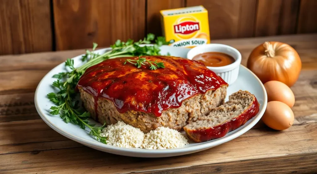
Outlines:
[[2,122],[0,131],[0,158],[1,154],[83,146],[58,134],[42,119]]

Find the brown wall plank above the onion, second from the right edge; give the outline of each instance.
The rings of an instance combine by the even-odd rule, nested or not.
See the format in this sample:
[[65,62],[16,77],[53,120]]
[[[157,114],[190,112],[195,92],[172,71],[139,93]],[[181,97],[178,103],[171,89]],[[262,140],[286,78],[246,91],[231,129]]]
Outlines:
[[294,34],[299,0],[258,0],[255,36]]

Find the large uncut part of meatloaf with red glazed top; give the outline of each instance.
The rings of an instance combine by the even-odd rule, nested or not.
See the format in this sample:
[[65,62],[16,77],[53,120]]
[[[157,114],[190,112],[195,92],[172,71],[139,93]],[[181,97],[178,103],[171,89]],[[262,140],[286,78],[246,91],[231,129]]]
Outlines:
[[[160,126],[179,131],[223,104],[228,84],[202,63],[173,56],[141,58],[151,62],[138,67],[139,57],[108,59],[81,76],[77,88],[95,120],[124,121],[145,133]],[[151,70],[155,61],[165,68]]]

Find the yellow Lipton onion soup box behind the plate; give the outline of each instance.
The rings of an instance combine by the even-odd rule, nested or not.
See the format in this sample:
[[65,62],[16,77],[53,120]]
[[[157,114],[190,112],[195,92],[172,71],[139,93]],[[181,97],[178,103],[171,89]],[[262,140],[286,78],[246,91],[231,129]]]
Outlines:
[[209,44],[208,11],[203,6],[161,10],[166,41],[174,47],[196,47]]

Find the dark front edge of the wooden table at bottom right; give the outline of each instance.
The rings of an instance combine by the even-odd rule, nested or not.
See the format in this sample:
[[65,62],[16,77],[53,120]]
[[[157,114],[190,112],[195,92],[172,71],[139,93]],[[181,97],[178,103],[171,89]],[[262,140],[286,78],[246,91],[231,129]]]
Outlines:
[[[289,174],[289,173],[314,173],[316,172],[317,161],[315,160],[316,152],[307,153],[306,156],[288,155],[287,157],[274,158],[259,158],[248,159],[241,161],[230,161],[225,163],[216,163],[208,165],[189,166],[181,169],[167,169],[163,171],[138,172],[138,174],[254,174],[254,173],[274,173],[274,174]],[[271,163],[271,161],[276,163]],[[268,165],[270,164],[270,165]],[[303,166],[297,168],[297,165]],[[262,166],[266,166],[263,168]],[[254,170],[254,168],[259,168]],[[207,172],[206,172],[207,171]]]

